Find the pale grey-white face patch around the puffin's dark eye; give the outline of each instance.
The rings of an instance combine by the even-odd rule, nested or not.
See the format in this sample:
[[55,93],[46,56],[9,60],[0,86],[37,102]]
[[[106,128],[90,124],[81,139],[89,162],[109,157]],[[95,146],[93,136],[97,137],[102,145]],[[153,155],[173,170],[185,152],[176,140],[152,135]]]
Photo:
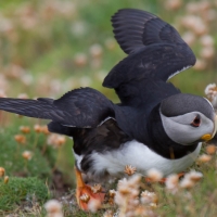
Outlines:
[[183,145],[190,145],[205,135],[213,136],[215,131],[214,120],[200,112],[191,112],[176,117],[166,117],[161,113],[161,118],[167,136]]

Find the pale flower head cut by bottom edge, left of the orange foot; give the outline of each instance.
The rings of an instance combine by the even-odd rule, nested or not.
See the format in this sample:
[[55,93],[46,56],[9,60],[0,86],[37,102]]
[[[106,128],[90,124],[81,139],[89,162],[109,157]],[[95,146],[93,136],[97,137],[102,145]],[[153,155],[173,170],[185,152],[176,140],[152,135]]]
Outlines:
[[62,204],[56,200],[50,200],[44,204],[47,217],[63,217]]

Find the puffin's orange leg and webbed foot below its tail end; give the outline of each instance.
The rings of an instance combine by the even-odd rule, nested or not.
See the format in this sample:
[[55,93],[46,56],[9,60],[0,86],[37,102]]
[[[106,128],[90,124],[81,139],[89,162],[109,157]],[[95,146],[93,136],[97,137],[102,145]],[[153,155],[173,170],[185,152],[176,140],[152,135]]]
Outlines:
[[75,175],[76,175],[76,200],[78,203],[78,206],[82,210],[89,210],[88,204],[93,202],[94,204],[100,205],[104,202],[105,193],[102,193],[101,187],[95,186],[91,188],[90,186],[87,186],[81,177],[81,173],[75,168]]

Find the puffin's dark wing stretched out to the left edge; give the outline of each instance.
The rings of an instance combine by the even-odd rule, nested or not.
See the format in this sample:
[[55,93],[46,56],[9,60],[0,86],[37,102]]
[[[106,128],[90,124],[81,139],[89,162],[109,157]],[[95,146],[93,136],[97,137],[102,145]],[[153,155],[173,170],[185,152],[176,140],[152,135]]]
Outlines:
[[113,103],[91,88],[75,89],[59,100],[0,98],[0,110],[78,128],[97,127],[114,116]]

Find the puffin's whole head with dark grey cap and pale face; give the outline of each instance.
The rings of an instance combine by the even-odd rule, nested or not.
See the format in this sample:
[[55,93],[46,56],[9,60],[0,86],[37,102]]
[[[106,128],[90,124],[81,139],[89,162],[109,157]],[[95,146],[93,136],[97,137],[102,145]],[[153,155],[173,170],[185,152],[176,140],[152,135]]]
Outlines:
[[217,131],[217,115],[209,101],[179,93],[162,101],[159,114],[167,136],[182,145],[210,140]]

